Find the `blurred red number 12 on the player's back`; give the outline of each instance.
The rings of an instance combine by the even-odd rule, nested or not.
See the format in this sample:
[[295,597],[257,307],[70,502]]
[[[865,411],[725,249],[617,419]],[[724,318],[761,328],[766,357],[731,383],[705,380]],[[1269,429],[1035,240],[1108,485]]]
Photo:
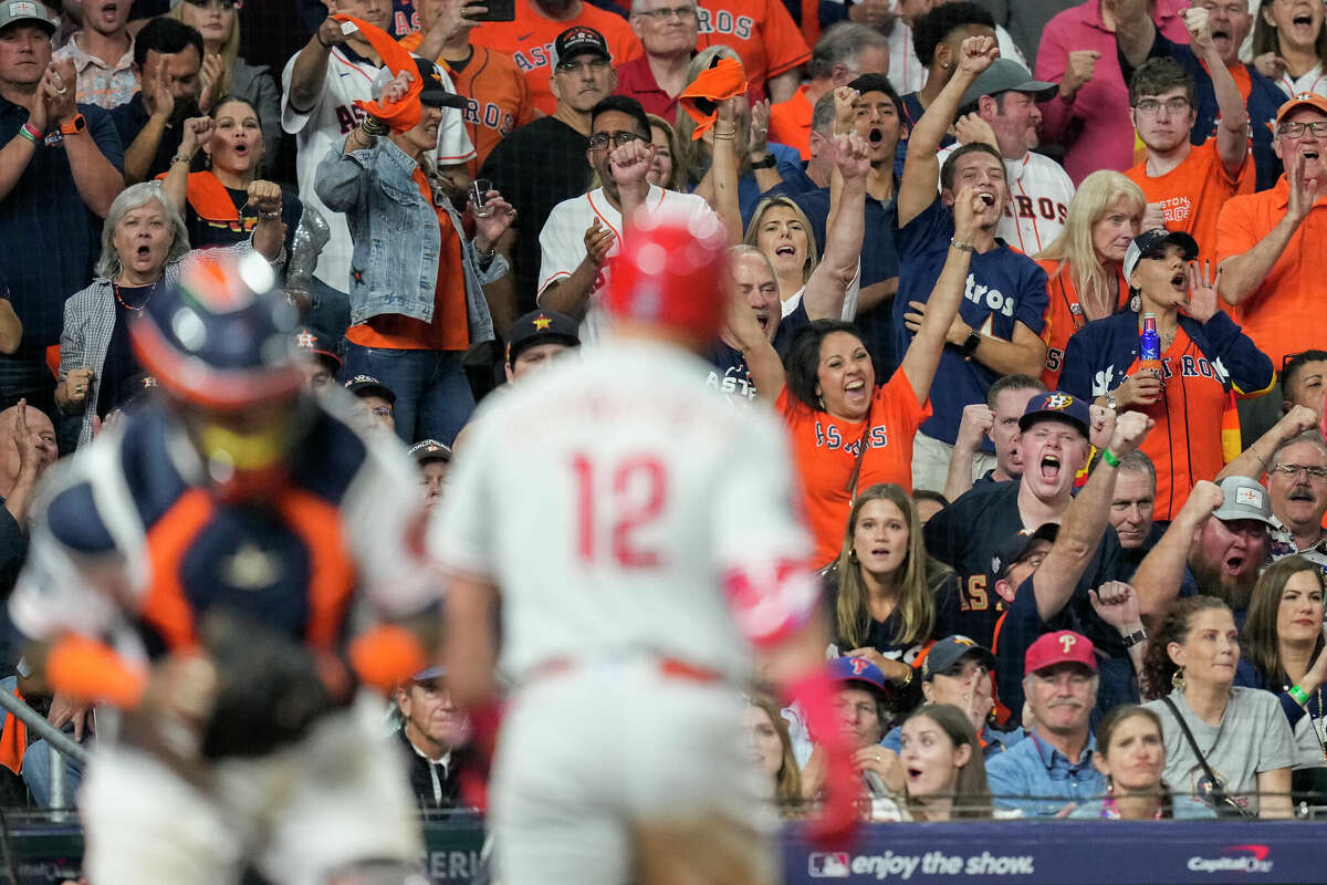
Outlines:
[[591,460],[572,455],[576,552],[585,565],[660,568],[664,553],[633,537],[667,507],[667,467],[649,454]]

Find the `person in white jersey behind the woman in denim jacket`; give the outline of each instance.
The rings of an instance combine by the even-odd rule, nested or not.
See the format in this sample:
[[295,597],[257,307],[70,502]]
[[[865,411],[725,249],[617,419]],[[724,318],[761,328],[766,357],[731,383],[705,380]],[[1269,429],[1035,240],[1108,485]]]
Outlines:
[[[334,5],[338,13],[354,16],[370,27],[386,28],[391,20],[391,0],[334,0]],[[340,150],[345,137],[364,119],[365,113],[354,102],[369,102],[376,97],[374,81],[382,68],[372,61],[372,54],[373,48],[360,28],[329,16],[281,72],[281,127],[295,135],[300,199],[326,219],[332,232],[322,247],[314,276],[338,292],[350,288],[350,228],[345,215],[322,204],[313,190],[313,180],[328,151]],[[308,69],[311,74],[305,74],[307,64],[313,65]],[[317,76],[318,65],[321,77]],[[297,72],[311,77],[309,97],[292,88]],[[437,74],[443,89],[455,92],[446,70],[437,68]],[[474,157],[475,149],[460,110],[445,107],[438,125],[438,153],[431,158],[434,165],[439,169],[459,166]]]

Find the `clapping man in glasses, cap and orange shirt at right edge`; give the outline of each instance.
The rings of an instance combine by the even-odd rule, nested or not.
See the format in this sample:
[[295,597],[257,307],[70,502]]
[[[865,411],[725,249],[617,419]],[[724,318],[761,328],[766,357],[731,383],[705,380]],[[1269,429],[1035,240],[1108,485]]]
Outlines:
[[1217,292],[1279,365],[1327,333],[1327,98],[1306,93],[1281,106],[1275,151],[1286,167],[1277,186],[1235,196],[1217,219]]

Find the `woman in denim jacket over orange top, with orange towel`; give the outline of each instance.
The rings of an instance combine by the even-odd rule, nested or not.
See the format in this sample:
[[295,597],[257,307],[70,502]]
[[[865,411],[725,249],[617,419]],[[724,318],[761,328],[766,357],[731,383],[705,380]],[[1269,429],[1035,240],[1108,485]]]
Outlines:
[[328,208],[345,212],[354,243],[345,375],[391,389],[405,442],[451,443],[475,406],[462,358],[494,338],[483,284],[508,271],[494,243],[515,210],[490,191],[488,212],[466,240],[427,157],[442,107],[463,100],[434,80],[430,62],[384,58],[397,78],[381,102],[365,106],[369,117],[342,149],[322,159],[314,184]]

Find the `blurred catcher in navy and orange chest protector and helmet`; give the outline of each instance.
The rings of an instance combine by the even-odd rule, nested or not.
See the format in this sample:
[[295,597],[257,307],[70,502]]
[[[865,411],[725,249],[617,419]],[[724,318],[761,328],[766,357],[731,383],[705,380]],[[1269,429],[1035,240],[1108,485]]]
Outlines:
[[80,795],[98,885],[422,881],[362,690],[427,662],[418,479],[303,387],[272,285],[204,257],[134,320],[161,395],[53,471],[11,600],[56,703],[109,703]]

